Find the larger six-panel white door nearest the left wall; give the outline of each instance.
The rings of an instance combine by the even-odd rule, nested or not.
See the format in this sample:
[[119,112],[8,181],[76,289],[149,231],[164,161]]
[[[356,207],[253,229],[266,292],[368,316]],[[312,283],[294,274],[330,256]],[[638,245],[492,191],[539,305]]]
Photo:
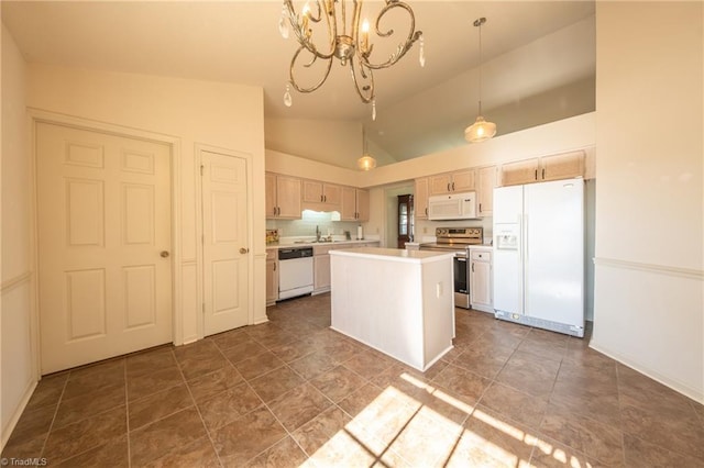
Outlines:
[[42,374],[169,343],[170,147],[36,126]]

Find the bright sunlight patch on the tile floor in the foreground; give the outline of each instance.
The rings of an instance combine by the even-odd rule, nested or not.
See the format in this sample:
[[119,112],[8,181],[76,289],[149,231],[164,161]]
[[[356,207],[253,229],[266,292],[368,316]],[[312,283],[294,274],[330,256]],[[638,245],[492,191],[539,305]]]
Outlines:
[[[534,447],[554,461],[590,468],[583,458],[565,453],[515,425],[475,409],[410,374],[399,377],[446,405],[468,414],[463,425],[411,394],[389,385],[344,427],[337,431],[304,466],[532,466]],[[426,398],[420,397],[418,398]],[[312,460],[312,461],[311,461]],[[419,466],[420,466],[419,465]]]

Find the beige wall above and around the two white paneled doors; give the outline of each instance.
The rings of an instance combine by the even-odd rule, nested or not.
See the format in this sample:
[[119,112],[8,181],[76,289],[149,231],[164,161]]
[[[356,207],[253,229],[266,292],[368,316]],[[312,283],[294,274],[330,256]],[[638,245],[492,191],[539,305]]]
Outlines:
[[[46,65],[28,68],[28,105],[165,135],[176,142],[178,186],[174,246],[175,342],[202,337],[199,313],[202,291],[198,248],[196,145],[246,154],[252,159],[250,309],[253,320],[266,320],[264,236],[264,116],[262,89],[224,82],[90,71]],[[179,238],[178,238],[179,237]],[[251,317],[252,317],[251,315]]]

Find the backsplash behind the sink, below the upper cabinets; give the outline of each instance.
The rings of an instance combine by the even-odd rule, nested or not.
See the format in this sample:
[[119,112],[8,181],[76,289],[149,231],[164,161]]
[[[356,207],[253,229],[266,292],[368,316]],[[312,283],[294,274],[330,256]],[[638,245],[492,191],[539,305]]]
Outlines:
[[352,238],[355,238],[356,226],[360,223],[339,220],[340,213],[337,211],[322,212],[304,210],[300,220],[266,220],[266,229],[278,230],[279,237],[315,237],[316,226],[318,226],[323,236],[342,235],[345,231],[349,231]]

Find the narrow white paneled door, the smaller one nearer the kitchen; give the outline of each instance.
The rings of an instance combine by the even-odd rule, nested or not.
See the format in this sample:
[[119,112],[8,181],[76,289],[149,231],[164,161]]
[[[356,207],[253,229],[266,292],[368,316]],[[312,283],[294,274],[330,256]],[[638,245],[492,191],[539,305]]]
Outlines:
[[201,151],[204,331],[248,324],[246,159]]

